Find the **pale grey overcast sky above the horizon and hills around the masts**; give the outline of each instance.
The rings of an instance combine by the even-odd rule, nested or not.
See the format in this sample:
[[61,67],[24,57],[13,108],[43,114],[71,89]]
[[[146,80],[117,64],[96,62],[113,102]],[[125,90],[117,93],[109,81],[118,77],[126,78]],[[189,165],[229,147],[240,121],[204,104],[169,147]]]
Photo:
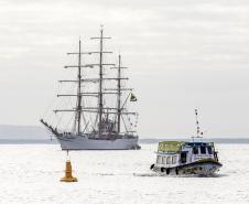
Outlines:
[[101,23],[130,67],[141,136],[194,135],[196,107],[206,137],[249,136],[248,0],[0,0],[0,124],[39,125],[65,53]]

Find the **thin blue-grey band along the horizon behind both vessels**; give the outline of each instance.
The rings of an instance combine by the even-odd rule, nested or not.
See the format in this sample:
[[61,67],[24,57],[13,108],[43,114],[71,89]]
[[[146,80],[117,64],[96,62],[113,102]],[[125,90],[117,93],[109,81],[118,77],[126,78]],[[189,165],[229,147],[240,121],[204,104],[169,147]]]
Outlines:
[[[158,143],[159,141],[188,141],[190,139],[139,139],[139,143]],[[203,141],[213,141],[215,143],[249,143],[249,138],[210,138],[210,139],[203,139]],[[58,142],[53,139],[36,139],[36,140],[30,140],[30,139],[0,139],[0,144],[58,144]]]

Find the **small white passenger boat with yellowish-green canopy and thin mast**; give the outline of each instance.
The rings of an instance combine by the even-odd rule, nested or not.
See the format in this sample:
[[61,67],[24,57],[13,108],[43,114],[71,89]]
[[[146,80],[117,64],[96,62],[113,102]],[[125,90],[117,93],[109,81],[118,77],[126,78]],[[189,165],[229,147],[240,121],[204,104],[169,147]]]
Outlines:
[[214,142],[202,141],[196,116],[196,137],[193,141],[161,141],[158,146],[156,161],[151,165],[155,172],[169,174],[212,175],[221,168]]

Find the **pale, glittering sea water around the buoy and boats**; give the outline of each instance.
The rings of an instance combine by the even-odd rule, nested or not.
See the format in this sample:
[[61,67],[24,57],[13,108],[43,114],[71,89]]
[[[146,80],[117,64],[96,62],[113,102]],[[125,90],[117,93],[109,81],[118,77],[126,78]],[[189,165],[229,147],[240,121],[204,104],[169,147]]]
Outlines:
[[249,144],[217,144],[224,167],[213,178],[159,176],[155,150],[71,152],[78,182],[62,183],[58,144],[0,144],[0,203],[249,203]]

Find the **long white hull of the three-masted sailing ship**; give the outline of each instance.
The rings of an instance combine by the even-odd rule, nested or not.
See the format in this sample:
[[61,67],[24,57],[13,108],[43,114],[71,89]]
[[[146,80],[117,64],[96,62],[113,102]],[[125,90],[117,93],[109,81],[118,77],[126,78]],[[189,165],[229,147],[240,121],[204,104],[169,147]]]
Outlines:
[[138,137],[120,138],[115,140],[88,139],[87,137],[56,136],[62,150],[132,150],[140,149]]

